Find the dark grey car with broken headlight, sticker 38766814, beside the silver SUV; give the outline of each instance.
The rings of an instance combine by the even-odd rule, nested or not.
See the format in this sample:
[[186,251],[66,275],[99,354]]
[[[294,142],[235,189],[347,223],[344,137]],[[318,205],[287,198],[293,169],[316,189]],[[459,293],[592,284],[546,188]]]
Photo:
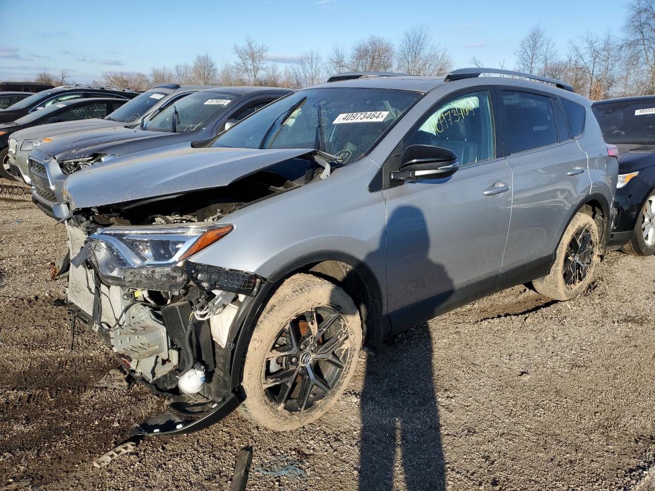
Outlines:
[[117,156],[208,139],[291,92],[274,87],[215,87],[168,101],[137,128],[115,126],[58,137],[29,155],[33,201],[45,213],[62,218],[56,204],[63,202],[62,186],[71,173]]

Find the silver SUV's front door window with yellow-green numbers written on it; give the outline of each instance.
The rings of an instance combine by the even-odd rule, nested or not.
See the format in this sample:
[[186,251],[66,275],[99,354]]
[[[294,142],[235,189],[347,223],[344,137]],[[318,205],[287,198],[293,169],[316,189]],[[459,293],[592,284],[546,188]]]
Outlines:
[[441,103],[428,111],[419,128],[403,138],[409,145],[432,145],[453,151],[460,166],[496,156],[491,101],[486,90]]

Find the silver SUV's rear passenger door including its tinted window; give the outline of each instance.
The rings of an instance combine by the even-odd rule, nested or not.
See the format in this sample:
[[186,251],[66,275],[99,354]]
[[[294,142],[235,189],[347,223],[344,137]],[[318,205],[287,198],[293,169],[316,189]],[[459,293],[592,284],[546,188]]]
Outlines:
[[571,209],[591,180],[587,155],[571,138],[559,98],[522,88],[497,90],[514,181],[502,274],[518,274],[550,265]]

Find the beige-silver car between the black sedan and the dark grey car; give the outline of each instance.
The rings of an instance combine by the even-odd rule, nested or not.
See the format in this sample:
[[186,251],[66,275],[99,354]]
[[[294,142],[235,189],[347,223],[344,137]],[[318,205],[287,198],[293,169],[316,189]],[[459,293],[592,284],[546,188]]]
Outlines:
[[[28,155],[35,144],[38,146],[44,141],[52,141],[52,139],[76,134],[84,130],[112,128],[114,126],[134,127],[139,124],[142,117],[150,112],[157,111],[159,107],[210,87],[207,85],[157,85],[128,101],[103,119],[58,122],[49,124],[47,128],[35,127],[15,132],[11,137],[14,142],[9,141],[10,146],[15,150],[13,153],[9,153],[9,160],[7,161],[9,168],[5,168],[5,170],[12,177],[29,184]],[[128,124],[121,125],[121,123]]]

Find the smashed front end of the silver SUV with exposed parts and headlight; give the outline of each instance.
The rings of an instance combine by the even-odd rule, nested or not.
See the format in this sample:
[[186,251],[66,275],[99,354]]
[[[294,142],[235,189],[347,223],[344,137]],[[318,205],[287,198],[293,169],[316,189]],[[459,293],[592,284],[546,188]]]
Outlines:
[[74,203],[88,204],[86,194],[67,182],[67,297],[75,318],[176,413],[141,424],[136,433],[196,431],[238,406],[242,395],[231,373],[236,332],[266,280],[193,258],[238,227],[231,213],[327,177],[328,160],[305,151],[219,187],[117,204],[100,198],[102,204],[84,208]]

